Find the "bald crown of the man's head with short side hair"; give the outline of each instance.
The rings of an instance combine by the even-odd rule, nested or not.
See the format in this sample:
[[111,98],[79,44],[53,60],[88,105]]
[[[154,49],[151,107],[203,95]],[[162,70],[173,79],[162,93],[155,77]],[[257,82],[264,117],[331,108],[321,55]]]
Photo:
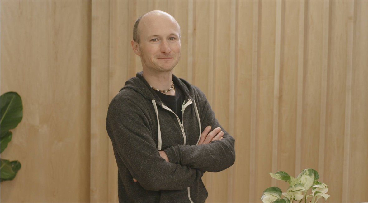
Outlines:
[[140,39],[141,32],[144,31],[147,28],[147,26],[149,28],[149,26],[155,23],[158,23],[158,22],[176,24],[178,31],[179,31],[178,34],[180,35],[180,26],[172,15],[164,11],[153,10],[153,11],[149,11],[148,13],[142,15],[141,17],[137,19],[137,21],[135,21],[134,28],[133,28],[133,40],[139,44],[141,42],[141,39]]

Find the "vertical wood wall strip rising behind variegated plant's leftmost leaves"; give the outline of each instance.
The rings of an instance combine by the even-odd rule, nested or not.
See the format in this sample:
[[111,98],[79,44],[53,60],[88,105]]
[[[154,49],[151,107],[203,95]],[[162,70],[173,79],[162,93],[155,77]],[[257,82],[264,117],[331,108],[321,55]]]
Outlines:
[[[272,170],[273,92],[275,74],[275,21],[276,1],[261,1],[258,55],[256,172],[253,201],[260,201],[265,188],[271,184],[268,172]],[[271,67],[271,68],[270,68]]]

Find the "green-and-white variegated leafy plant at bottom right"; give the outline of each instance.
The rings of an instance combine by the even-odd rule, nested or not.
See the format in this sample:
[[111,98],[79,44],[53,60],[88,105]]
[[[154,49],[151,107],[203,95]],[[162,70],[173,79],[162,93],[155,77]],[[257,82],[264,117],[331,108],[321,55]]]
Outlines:
[[[321,197],[325,200],[330,196],[326,194],[328,186],[318,181],[318,172],[313,169],[304,169],[294,178],[284,171],[278,171],[275,174],[269,173],[272,178],[277,180],[286,181],[289,183],[289,188],[286,192],[281,191],[278,187],[270,187],[263,191],[261,200],[263,203],[291,203],[294,200],[297,202],[308,202],[315,203]],[[307,195],[308,190],[312,188],[312,194]],[[283,195],[284,197],[281,197]],[[312,199],[310,199],[312,198]]]

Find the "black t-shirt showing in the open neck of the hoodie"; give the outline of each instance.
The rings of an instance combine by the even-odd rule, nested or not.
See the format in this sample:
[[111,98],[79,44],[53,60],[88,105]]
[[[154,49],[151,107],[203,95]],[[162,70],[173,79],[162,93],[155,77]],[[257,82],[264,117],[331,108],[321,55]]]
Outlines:
[[184,103],[184,95],[180,88],[175,88],[175,96],[165,95],[158,91],[155,92],[160,97],[161,101],[179,117],[180,122],[183,122],[183,113],[181,112],[181,108]]

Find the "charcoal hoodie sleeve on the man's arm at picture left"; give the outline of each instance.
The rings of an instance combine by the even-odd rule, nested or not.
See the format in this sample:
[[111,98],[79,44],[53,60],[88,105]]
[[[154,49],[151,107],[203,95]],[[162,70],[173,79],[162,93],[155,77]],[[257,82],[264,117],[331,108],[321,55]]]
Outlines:
[[147,190],[182,190],[193,185],[203,172],[160,157],[148,118],[135,103],[124,97],[114,98],[107,112],[106,129],[119,171],[126,167]]

